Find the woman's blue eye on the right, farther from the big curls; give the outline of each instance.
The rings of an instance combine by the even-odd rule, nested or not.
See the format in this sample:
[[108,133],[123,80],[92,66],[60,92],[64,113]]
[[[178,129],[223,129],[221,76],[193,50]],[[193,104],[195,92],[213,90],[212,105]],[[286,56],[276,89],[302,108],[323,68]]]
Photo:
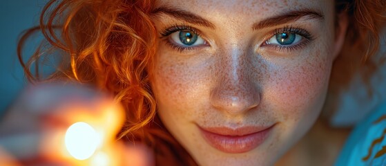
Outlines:
[[278,33],[268,39],[266,44],[275,44],[280,46],[287,46],[297,44],[302,40],[302,36],[296,33]]

